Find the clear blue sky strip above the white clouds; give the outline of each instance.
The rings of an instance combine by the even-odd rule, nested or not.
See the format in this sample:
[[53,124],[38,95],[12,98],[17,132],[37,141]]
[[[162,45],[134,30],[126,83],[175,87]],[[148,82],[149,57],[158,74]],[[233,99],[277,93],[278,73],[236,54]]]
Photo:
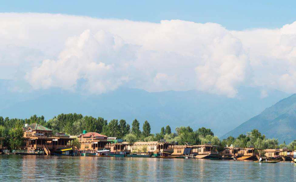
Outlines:
[[230,30],[280,28],[296,19],[296,1],[1,1],[0,12],[84,15],[103,19],[215,22]]

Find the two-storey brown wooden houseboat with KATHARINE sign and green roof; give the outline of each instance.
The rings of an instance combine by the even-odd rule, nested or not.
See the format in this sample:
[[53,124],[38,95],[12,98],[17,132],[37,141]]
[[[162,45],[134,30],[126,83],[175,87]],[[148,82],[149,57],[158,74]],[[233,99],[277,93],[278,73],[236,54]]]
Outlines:
[[72,149],[72,141],[65,133],[52,134],[52,130],[37,123],[25,124],[24,130],[24,149],[22,154],[46,154],[50,155],[57,150]]

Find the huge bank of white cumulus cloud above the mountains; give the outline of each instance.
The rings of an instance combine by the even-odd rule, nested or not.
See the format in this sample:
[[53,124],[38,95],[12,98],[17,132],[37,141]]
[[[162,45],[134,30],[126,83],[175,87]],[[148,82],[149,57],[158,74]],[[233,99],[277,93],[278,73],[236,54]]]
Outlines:
[[[34,89],[99,94],[123,85],[229,97],[242,85],[296,91],[296,22],[280,29],[230,31],[182,20],[0,13],[0,39],[1,68],[9,67],[11,78],[23,72],[18,75]],[[36,51],[13,49],[12,55],[25,59],[8,58],[7,45]]]

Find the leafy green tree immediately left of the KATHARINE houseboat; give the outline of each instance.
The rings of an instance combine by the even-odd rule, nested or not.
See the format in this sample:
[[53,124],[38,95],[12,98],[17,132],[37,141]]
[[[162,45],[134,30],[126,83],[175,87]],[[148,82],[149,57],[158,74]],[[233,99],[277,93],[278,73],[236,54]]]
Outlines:
[[19,149],[23,146],[24,132],[22,128],[10,129],[8,132],[8,136],[11,149]]

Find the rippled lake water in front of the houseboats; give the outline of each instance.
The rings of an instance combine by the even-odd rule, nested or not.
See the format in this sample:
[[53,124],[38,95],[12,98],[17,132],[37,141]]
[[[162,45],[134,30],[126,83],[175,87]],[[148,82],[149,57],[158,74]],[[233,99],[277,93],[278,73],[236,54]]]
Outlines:
[[296,163],[0,155],[0,181],[296,181]]

